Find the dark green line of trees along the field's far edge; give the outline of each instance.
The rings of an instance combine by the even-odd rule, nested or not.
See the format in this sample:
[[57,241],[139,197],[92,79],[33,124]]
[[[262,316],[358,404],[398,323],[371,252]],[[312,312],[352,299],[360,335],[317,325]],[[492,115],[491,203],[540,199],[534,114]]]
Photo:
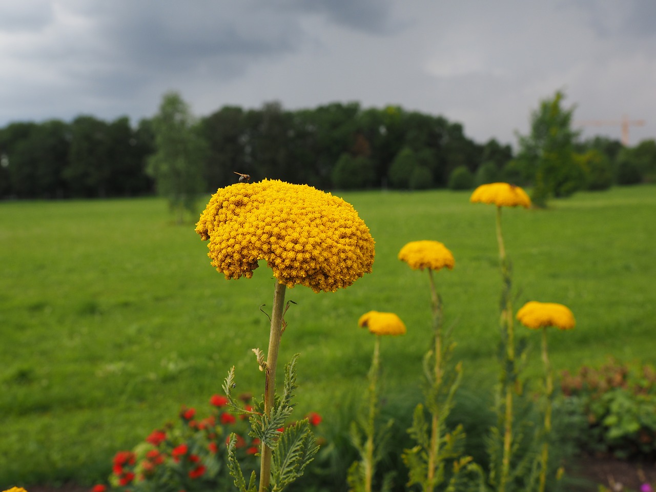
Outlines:
[[10,123],[0,129],[0,197],[68,198],[159,192],[188,207],[195,194],[236,182],[276,178],[323,190],[471,188],[504,180],[544,183],[547,195],[653,179],[654,140],[581,141],[563,94],[531,114],[515,155],[495,139],[467,138],[461,124],[399,106],[358,102],[285,110],[224,106],[195,118],[176,92],[133,127],[127,117],[81,115],[70,123]]

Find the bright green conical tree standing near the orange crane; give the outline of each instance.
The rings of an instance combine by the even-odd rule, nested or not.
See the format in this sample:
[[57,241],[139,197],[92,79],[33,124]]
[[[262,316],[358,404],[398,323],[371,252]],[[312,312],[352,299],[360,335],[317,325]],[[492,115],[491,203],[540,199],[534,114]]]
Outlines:
[[574,107],[563,108],[563,92],[540,102],[531,112],[531,133],[518,135],[518,160],[533,169],[533,203],[545,207],[550,197],[569,196],[583,188],[585,175],[574,159],[578,136],[571,129]]

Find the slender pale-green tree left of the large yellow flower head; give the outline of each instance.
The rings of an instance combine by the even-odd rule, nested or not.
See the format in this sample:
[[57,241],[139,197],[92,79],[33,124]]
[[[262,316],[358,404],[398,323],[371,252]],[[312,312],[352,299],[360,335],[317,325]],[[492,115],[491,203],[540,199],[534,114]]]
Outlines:
[[169,200],[171,211],[182,223],[184,211],[196,212],[197,197],[205,188],[207,142],[178,92],[164,94],[152,128],[156,150],[148,158],[146,172],[155,179],[157,192]]

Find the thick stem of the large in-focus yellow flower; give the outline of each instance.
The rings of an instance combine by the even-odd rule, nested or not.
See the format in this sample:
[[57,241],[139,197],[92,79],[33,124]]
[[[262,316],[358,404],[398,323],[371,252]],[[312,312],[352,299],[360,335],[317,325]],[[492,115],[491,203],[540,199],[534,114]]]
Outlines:
[[[271,313],[271,330],[269,333],[269,348],[266,359],[266,382],[264,383],[264,413],[271,415],[276,397],[276,365],[278,349],[282,337],[283,312],[285,307],[285,290],[283,283],[276,281],[274,290],[274,308]],[[260,461],[260,492],[265,492],[271,482],[271,448],[262,443]]]

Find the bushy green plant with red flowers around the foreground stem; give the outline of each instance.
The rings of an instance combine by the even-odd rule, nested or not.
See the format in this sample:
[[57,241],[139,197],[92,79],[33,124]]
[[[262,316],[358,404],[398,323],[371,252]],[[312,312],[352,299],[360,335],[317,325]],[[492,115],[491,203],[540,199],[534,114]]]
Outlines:
[[[230,375],[234,375],[234,371],[230,371]],[[230,379],[230,384],[233,380]],[[207,417],[199,419],[194,408],[182,407],[175,422],[155,429],[133,449],[116,453],[108,485],[99,483],[94,486],[94,492],[226,489],[234,480],[235,466],[239,466],[240,474],[241,470],[246,470],[251,477],[256,477],[262,432],[253,432],[253,423],[264,418],[258,412],[261,402],[253,402],[250,394],[237,397],[230,394],[228,397],[214,395],[210,403],[211,412]],[[274,472],[276,484],[289,483],[290,478],[293,480],[311,461],[317,446],[310,428],[320,422],[321,417],[314,412],[286,426],[285,420],[276,419],[278,428],[268,432],[276,436],[274,441],[279,441],[276,449],[281,451],[274,453],[277,466],[274,470],[281,470],[278,474]],[[308,441],[310,438],[312,440]],[[276,461],[277,457],[283,459]],[[298,466],[299,462],[302,467]],[[280,489],[274,487],[272,490]]]

